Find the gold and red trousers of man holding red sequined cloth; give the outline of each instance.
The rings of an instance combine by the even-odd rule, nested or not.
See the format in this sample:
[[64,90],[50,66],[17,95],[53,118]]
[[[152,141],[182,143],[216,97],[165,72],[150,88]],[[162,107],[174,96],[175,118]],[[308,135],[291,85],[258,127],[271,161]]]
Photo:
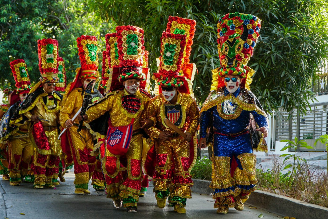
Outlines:
[[[34,185],[48,186],[53,179],[58,178],[60,141],[58,140],[58,129],[45,131],[49,145],[50,154],[40,154],[38,149],[34,153]],[[42,153],[42,152],[41,152]]]

